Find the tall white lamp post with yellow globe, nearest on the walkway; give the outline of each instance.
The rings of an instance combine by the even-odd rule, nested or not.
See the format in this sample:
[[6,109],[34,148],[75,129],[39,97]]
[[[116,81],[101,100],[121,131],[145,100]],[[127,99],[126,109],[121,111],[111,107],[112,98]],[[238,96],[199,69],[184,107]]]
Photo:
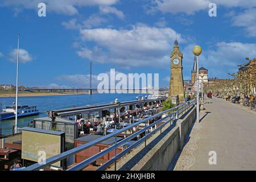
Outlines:
[[199,123],[199,55],[202,52],[200,46],[193,47],[193,54],[196,56],[196,121]]

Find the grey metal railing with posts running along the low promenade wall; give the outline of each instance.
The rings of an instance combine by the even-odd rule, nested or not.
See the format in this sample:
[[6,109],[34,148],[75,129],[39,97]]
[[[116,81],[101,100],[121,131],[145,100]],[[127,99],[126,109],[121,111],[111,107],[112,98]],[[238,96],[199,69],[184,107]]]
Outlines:
[[[168,123],[170,123],[170,125],[172,125],[173,121],[175,121],[175,119],[180,118],[185,112],[187,112],[189,109],[191,109],[193,106],[195,106],[196,104],[196,100],[191,100],[190,102],[188,102],[187,104],[181,104],[178,105],[176,107],[172,107],[171,109],[162,111],[158,114],[152,115],[151,117],[142,119],[141,121],[135,122],[129,126],[123,127],[122,129],[120,129],[119,131],[116,131],[114,133],[105,135],[104,137],[100,137],[96,140],[93,140],[91,142],[88,142],[86,144],[82,144],[79,147],[73,148],[71,150],[65,151],[59,155],[55,155],[52,156],[51,158],[48,158],[46,160],[44,160],[43,162],[40,163],[36,163],[33,164],[31,166],[28,166],[24,169],[22,169],[23,171],[32,171],[32,170],[39,170],[39,169],[43,169],[47,166],[50,166],[53,163],[59,162],[61,160],[67,159],[69,156],[75,155],[83,150],[86,150],[87,148],[90,148],[92,146],[95,146],[96,144],[99,144],[105,140],[108,140],[112,137],[115,137],[115,143],[108,147],[105,148],[104,150],[102,150],[101,152],[99,152],[96,155],[91,156],[90,158],[76,164],[76,166],[73,166],[71,168],[68,169],[68,171],[76,171],[76,170],[81,170],[83,168],[85,168],[86,166],[88,166],[89,164],[95,162],[97,159],[101,158],[101,156],[104,156],[105,154],[108,154],[110,151],[115,151],[115,156],[108,160],[108,162],[104,163],[102,166],[98,167],[96,170],[104,170],[106,168],[108,168],[110,165],[112,165],[113,163],[115,163],[114,168],[116,169],[116,163],[117,160],[120,159],[122,156],[124,156],[125,154],[127,154],[129,151],[131,151],[134,147],[138,146],[139,144],[141,144],[142,142],[145,143],[146,146],[146,142],[147,142],[147,138],[151,137],[152,134],[156,133],[156,131],[160,130],[160,133],[162,133],[162,129],[164,126],[166,126]],[[162,116],[163,114],[167,115],[161,119],[159,119],[158,121],[155,121],[154,123],[149,124],[149,121],[151,119],[154,119],[156,117]],[[163,122],[163,123],[162,123]],[[129,137],[122,139],[121,141],[117,142],[117,135],[124,133],[127,130],[131,130],[134,127],[138,127],[140,124],[145,123],[144,128],[135,132],[134,134],[131,134]],[[158,126],[157,125],[159,123],[162,123],[162,125]],[[154,127],[154,130],[150,130],[151,127]],[[149,132],[150,130],[150,132]],[[121,146],[122,144],[125,144],[127,142],[129,142],[131,139],[136,138],[138,135],[145,133],[144,137],[142,137],[141,139],[135,141],[133,144],[131,144],[129,147],[125,148],[122,152],[120,152],[119,154],[117,154],[117,148],[119,146]]]

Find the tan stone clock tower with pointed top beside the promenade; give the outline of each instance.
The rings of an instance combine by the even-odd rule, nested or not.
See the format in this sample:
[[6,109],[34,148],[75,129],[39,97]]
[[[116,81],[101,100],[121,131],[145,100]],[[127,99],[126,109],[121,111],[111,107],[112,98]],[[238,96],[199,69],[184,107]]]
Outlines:
[[170,91],[171,96],[179,96],[179,102],[184,102],[184,82],[182,74],[182,59],[183,55],[180,51],[177,39],[174,42],[174,50],[171,53],[171,77],[170,77]]

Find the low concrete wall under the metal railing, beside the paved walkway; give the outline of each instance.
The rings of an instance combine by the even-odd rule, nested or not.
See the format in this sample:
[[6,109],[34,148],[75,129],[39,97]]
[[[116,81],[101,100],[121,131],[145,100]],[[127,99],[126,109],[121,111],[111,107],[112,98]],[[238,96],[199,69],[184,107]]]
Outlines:
[[[192,123],[196,120],[196,107],[188,111],[184,117],[176,121],[176,125],[168,123],[162,130],[147,139],[133,152],[117,162],[117,170],[121,171],[164,171],[170,167],[175,155],[181,150]],[[114,167],[110,168],[114,170]]]

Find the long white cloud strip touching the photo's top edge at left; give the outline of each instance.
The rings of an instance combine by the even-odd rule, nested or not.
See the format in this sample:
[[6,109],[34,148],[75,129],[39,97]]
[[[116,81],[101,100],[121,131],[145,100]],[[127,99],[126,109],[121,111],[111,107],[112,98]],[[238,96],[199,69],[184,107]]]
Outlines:
[[[0,2],[0,6],[11,6],[14,7],[16,13],[19,13],[22,9],[33,9],[38,10],[38,4],[42,0],[4,0]],[[66,14],[66,15],[75,15],[78,12],[77,7],[83,6],[110,6],[118,2],[118,0],[44,0],[46,3],[47,11],[53,11],[55,13]]]

